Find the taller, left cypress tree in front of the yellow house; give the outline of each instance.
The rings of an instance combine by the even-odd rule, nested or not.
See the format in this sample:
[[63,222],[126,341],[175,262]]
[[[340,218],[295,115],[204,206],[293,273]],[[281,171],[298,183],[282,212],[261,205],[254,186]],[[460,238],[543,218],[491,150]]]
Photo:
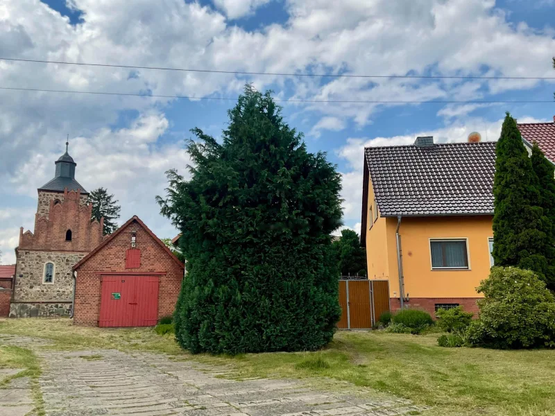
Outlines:
[[493,259],[495,266],[533,270],[545,279],[547,217],[538,205],[540,190],[515,119],[507,113],[497,141],[493,196]]

